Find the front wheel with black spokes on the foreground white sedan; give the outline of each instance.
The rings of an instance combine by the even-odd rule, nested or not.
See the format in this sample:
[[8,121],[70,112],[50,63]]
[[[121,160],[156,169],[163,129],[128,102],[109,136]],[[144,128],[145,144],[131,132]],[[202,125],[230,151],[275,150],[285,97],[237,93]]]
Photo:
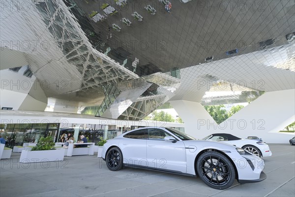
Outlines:
[[211,188],[224,190],[231,187],[236,179],[233,164],[224,155],[208,151],[197,161],[199,177]]

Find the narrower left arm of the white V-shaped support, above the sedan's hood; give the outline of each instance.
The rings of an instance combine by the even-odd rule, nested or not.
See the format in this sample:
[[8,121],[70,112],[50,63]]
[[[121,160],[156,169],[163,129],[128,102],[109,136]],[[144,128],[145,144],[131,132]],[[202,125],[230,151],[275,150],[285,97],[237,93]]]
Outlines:
[[210,126],[213,128],[217,124],[201,103],[188,100],[171,100],[169,102],[183,120],[185,133],[200,139],[201,136],[214,132],[213,129],[209,130]]

